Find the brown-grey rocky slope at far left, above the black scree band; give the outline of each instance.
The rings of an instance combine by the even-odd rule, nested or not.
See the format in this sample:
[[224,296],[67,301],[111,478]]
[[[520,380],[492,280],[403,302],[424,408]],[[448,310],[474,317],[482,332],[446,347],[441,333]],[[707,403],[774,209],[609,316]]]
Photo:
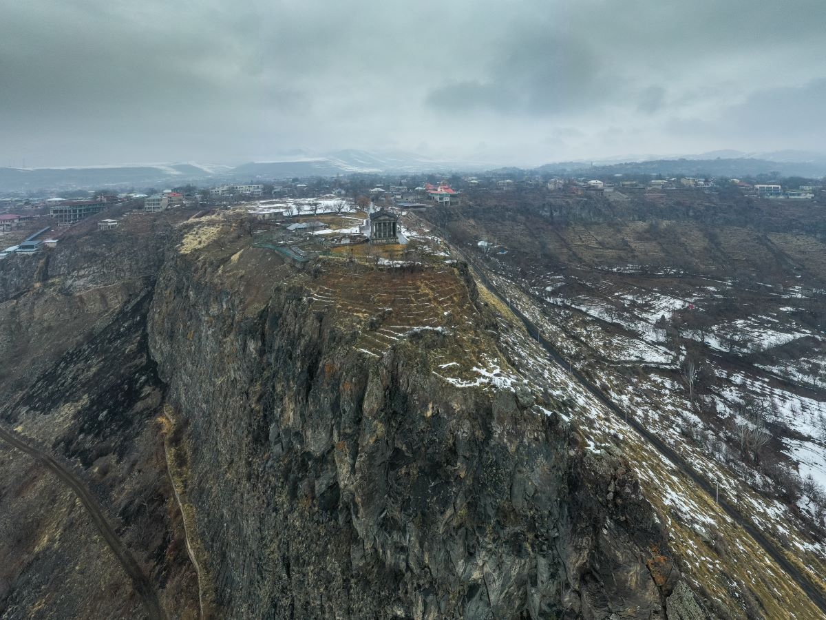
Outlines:
[[[83,227],[83,228],[80,228]],[[54,250],[0,264],[0,394],[31,379],[153,289],[175,235],[169,220],[132,216],[121,230],[83,222]]]

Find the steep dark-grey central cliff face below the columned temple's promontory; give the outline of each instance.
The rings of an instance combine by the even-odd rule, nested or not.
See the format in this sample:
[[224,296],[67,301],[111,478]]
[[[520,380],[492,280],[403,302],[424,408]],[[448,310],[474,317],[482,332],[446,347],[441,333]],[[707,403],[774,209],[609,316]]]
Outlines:
[[[165,265],[149,324],[212,613],[664,617],[679,573],[619,460],[582,456],[529,394],[440,378],[455,334],[368,354],[358,317],[314,306],[323,274],[234,251]],[[472,283],[450,278],[495,349]]]

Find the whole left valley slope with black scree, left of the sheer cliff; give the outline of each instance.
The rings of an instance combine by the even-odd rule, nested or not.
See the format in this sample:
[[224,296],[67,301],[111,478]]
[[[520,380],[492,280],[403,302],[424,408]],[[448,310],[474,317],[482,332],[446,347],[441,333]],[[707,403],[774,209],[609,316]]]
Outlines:
[[[118,239],[73,229],[57,250],[2,261],[0,421],[88,489],[169,616],[195,618],[156,419],[164,385],[146,344],[164,231],[149,220]],[[145,618],[69,486],[6,441],[0,532],[0,617]]]

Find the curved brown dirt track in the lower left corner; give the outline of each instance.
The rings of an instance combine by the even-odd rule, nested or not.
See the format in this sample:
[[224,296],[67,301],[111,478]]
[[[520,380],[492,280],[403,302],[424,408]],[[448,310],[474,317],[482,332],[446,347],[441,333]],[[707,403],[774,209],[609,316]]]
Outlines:
[[45,467],[57,475],[69,489],[72,489],[72,492],[78,496],[80,503],[83,504],[83,508],[86,508],[89,516],[92,517],[92,521],[95,527],[97,527],[97,531],[101,533],[103,540],[107,542],[107,545],[112,549],[118,561],[121,562],[123,570],[126,570],[126,575],[129,575],[132,580],[135,592],[138,593],[140,600],[144,603],[146,613],[151,620],[165,620],[166,614],[160,606],[158,593],[155,592],[154,587],[149,578],[144,574],[144,571],[140,569],[140,565],[138,565],[137,560],[135,560],[135,556],[132,556],[131,551],[126,548],[115,533],[112,525],[103,515],[97,499],[93,497],[83,482],[65,465],[55,460],[53,456],[38,450],[34,446],[30,446],[26,441],[23,441],[17,436],[16,433],[0,427],[0,440],[5,441],[9,446],[15,447],[21,452],[25,452],[42,465],[45,465]]

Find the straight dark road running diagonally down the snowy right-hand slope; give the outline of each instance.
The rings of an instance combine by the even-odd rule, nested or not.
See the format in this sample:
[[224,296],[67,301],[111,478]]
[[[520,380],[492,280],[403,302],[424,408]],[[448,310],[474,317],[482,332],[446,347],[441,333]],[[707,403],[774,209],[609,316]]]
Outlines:
[[[463,258],[465,258],[463,256]],[[482,281],[485,286],[490,289],[491,293],[495,294],[496,297],[501,299],[502,303],[510,308],[510,311],[513,312],[517,317],[520,318],[520,321],[525,325],[525,329],[528,330],[528,333],[531,337],[533,337],[539,344],[544,348],[544,350],[548,353],[548,355],[557,362],[559,365],[562,365],[563,368],[568,369],[568,371],[574,376],[577,381],[582,384],[582,386],[588,390],[597,400],[605,405],[605,407],[609,408],[611,412],[615,413],[615,415],[619,416],[622,419],[625,419],[625,412],[623,409],[619,408],[610,398],[608,398],[605,393],[602,392],[601,389],[597,388],[595,384],[592,384],[589,379],[587,379],[579,370],[577,370],[572,365],[568,364],[568,361],[563,358],[562,355],[554,348],[554,346],[544,339],[544,337],[539,333],[539,329],[534,325],[533,322],[529,320],[528,317],[520,312],[519,308],[516,308],[510,300],[507,299],[504,295],[499,293],[496,289],[496,286],[491,282],[491,279],[487,277],[486,274],[482,273],[481,269],[477,269],[477,267],[467,258],[465,258],[468,265],[470,265],[471,269],[473,269],[474,274],[477,275],[477,278]],[[668,446],[665,442],[663,442],[657,435],[653,432],[648,431],[646,427],[644,427],[640,422],[634,419],[634,417],[628,416],[626,420],[628,424],[634,428],[636,432],[640,435],[645,437],[656,449],[660,452],[663,456],[665,456],[668,460],[672,461],[676,467],[682,470],[689,478],[691,478],[694,483],[703,489],[705,493],[709,494],[710,497],[714,498],[714,487],[708,480],[705,478],[701,478],[700,475],[696,473],[694,468],[689,465],[689,463],[682,458],[671,446]],[[772,560],[781,566],[781,568],[786,572],[786,575],[789,575],[791,579],[794,579],[795,583],[800,586],[806,596],[820,608],[820,611],[824,613],[826,616],[826,594],[822,589],[819,589],[817,585],[815,585],[807,575],[798,570],[795,565],[791,564],[791,562],[786,558],[783,552],[776,546],[776,544],[769,540],[757,527],[754,527],[752,522],[747,518],[741,515],[737,508],[734,508],[730,503],[725,501],[724,498],[719,499],[719,506],[723,508],[725,513],[731,517],[734,522],[736,522],[740,527],[743,527],[743,530],[748,532],[748,535],[751,536],[757,543],[762,546],[763,550],[771,556]]]

